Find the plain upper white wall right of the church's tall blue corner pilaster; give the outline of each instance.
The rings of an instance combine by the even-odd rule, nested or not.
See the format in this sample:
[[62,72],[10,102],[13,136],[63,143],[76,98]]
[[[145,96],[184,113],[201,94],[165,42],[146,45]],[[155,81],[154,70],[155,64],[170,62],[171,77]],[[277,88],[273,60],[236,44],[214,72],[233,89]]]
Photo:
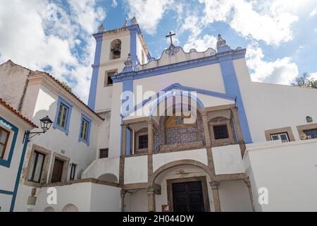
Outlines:
[[286,126],[292,126],[298,141],[296,126],[307,124],[306,116],[313,117],[316,122],[317,105],[313,104],[316,89],[254,83],[244,59],[235,60],[234,66],[254,143],[266,141],[264,131]]

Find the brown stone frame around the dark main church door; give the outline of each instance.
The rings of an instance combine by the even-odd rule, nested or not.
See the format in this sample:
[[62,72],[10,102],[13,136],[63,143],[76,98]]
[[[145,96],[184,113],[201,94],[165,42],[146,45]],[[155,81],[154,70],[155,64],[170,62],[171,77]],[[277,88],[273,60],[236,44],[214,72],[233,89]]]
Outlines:
[[203,194],[204,208],[205,212],[210,212],[210,203],[209,203],[209,194],[207,187],[206,176],[203,177],[187,177],[187,178],[179,178],[179,179],[168,179],[166,180],[167,186],[167,195],[168,195],[168,207],[170,212],[174,211],[174,203],[173,203],[173,184],[175,183],[183,183],[183,182],[201,182],[201,189]]

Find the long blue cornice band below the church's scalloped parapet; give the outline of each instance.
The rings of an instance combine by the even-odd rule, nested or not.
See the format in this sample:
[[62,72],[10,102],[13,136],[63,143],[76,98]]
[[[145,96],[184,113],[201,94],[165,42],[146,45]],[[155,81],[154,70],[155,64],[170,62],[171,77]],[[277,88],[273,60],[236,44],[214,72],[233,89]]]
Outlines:
[[133,79],[148,78],[151,76],[159,76],[175,71],[183,71],[187,69],[194,69],[201,66],[207,66],[211,64],[219,64],[220,58],[229,57],[230,59],[242,59],[244,58],[246,49],[237,49],[230,52],[218,53],[210,57],[201,57],[199,59],[192,59],[189,61],[182,61],[175,64],[168,64],[164,66],[158,66],[151,69],[145,69],[141,71],[123,71],[113,76],[113,83],[120,83],[125,77],[132,77]]

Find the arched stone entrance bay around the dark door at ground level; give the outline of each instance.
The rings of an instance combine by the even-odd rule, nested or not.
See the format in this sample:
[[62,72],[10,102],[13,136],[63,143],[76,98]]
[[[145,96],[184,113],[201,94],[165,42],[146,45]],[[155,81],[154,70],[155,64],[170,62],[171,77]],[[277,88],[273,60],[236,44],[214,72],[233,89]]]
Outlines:
[[[177,160],[157,169],[150,184],[161,186],[161,194],[154,194],[156,210],[177,212],[209,212],[213,191],[210,182],[214,180],[211,169],[196,160]],[[167,201],[167,202],[166,202]]]

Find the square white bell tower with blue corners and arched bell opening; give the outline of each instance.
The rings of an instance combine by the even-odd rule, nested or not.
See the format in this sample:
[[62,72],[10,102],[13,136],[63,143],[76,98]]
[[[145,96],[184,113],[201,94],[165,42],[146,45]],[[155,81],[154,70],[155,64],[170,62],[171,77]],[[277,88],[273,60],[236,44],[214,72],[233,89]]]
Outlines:
[[135,17],[129,23],[125,20],[122,28],[114,30],[106,30],[100,25],[94,38],[96,50],[88,106],[96,112],[105,112],[111,110],[111,77],[123,71],[128,54],[134,66],[147,64],[151,57]]

